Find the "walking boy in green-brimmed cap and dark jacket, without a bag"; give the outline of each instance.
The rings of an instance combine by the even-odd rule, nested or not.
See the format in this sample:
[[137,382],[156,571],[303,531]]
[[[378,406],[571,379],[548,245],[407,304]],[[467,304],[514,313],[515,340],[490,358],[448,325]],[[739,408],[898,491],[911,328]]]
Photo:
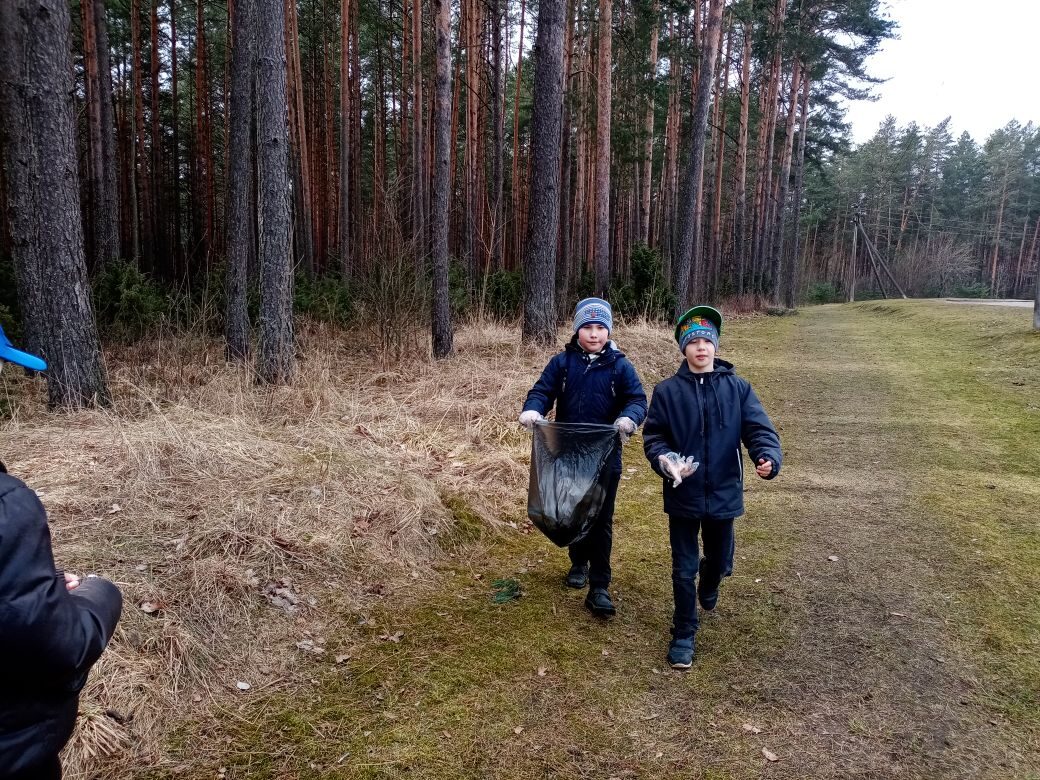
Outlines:
[[685,361],[654,388],[643,430],[643,449],[664,478],[675,595],[668,660],[674,669],[693,666],[697,602],[714,609],[720,583],[733,569],[733,520],[744,514],[742,443],[763,479],[776,477],[782,462],[780,439],[755,391],[716,357],[721,331],[722,314],[709,306],[679,318],[675,339]]

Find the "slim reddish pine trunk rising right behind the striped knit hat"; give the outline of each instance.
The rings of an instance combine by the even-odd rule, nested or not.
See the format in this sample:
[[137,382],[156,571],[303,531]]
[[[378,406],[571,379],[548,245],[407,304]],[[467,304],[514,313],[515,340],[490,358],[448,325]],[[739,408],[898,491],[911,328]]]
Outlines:
[[596,61],[596,241],[594,267],[596,294],[606,294],[610,283],[610,80],[613,0],[599,0],[599,33]]

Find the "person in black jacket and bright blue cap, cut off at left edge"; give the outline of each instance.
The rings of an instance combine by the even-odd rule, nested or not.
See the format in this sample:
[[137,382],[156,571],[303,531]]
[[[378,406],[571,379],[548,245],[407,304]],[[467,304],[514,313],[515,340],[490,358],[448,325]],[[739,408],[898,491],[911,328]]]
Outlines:
[[[2,329],[0,361],[47,367]],[[122,608],[108,580],[55,568],[43,504],[0,463],[0,780],[61,777],[79,692]]]

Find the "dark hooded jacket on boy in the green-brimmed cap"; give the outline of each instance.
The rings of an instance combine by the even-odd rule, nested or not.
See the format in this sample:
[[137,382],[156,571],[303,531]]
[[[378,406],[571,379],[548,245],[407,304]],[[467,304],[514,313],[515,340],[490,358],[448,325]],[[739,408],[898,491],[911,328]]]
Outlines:
[[643,450],[665,477],[658,456],[693,456],[700,467],[672,487],[665,478],[665,512],[678,517],[729,519],[744,514],[744,456],[773,461],[780,473],[780,438],[761,401],[733,365],[716,358],[714,370],[694,373],[683,361],[675,375],[657,385],[643,428]]

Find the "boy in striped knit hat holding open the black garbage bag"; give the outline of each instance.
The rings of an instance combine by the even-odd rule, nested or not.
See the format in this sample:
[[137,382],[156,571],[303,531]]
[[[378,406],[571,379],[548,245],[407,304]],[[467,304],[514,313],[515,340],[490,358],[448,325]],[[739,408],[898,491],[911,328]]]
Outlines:
[[[574,335],[562,353],[553,356],[527,393],[520,424],[528,430],[556,407],[556,422],[594,422],[617,425],[621,443],[635,433],[647,413],[647,396],[635,368],[610,340],[614,314],[597,297],[579,301],[574,309]],[[604,467],[606,497],[592,530],[568,547],[570,588],[589,586],[586,606],[599,617],[617,613],[610,584],[610,549],[614,542],[614,502],[621,479],[621,448]]]

